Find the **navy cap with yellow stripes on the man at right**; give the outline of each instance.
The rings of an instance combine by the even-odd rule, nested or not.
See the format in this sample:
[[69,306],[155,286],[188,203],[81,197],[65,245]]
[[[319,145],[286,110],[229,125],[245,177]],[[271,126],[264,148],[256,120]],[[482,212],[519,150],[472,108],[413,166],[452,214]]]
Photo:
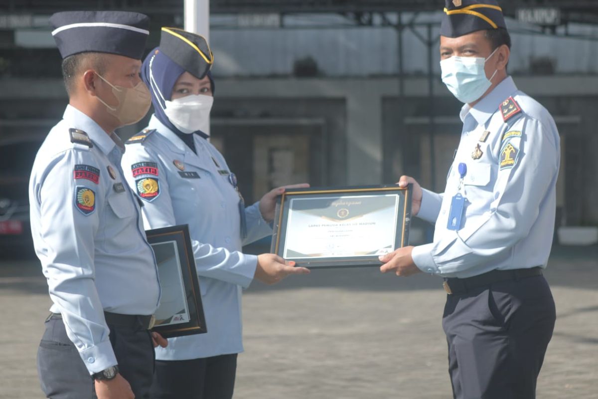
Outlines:
[[456,38],[486,29],[507,29],[495,0],[446,0],[440,35]]

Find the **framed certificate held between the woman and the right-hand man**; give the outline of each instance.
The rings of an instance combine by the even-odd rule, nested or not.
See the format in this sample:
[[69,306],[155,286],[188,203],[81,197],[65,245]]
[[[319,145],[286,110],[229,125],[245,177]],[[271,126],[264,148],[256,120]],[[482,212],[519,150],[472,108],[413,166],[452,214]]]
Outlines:
[[271,252],[297,266],[380,266],[408,243],[412,186],[288,189],[279,196]]

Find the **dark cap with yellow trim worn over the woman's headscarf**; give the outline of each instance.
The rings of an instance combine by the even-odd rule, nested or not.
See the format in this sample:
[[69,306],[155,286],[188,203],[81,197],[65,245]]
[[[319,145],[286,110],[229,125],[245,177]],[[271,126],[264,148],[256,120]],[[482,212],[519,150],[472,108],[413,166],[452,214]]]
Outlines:
[[178,28],[162,28],[160,51],[185,71],[198,79],[208,74],[214,57],[202,35]]

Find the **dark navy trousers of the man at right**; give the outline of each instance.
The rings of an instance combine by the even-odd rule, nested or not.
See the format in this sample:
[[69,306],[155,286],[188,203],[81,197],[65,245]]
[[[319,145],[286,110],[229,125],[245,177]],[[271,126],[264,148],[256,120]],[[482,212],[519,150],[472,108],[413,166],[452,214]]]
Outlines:
[[447,296],[443,328],[455,399],[534,399],[556,312],[544,276]]

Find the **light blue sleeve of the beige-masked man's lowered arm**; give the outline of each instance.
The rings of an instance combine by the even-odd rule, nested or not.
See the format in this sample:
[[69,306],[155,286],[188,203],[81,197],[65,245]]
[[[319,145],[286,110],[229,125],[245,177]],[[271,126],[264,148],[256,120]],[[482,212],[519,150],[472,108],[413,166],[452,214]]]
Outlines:
[[[117,364],[109,341],[103,306],[94,283],[94,236],[99,215],[105,207],[103,193],[96,190],[96,209],[83,215],[74,206],[75,164],[94,165],[90,153],[67,150],[48,165],[44,173],[34,173],[32,188],[39,203],[39,235],[45,242],[42,269],[49,293],[60,309],[66,334],[74,343],[90,374]],[[33,203],[33,202],[32,202]]]

